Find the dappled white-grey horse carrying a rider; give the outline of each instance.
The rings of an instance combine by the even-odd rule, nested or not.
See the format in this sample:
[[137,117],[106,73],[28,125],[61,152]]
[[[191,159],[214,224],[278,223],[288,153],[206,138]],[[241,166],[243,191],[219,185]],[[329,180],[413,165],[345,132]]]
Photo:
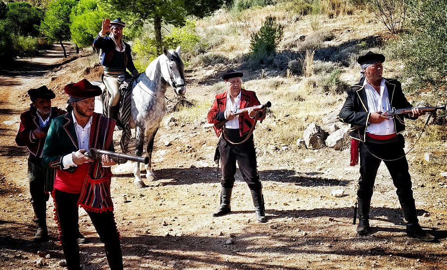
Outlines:
[[[146,137],[149,163],[145,166],[146,178],[149,180],[157,179],[152,172],[151,156],[155,134],[166,113],[165,93],[169,85],[174,88],[177,96],[185,95],[186,84],[180,46],[175,51],[163,48],[163,54],[150,62],[146,71],[132,85],[131,125],[136,128],[135,155],[142,156]],[[135,165],[134,175],[136,187],[145,187],[139,162]]]

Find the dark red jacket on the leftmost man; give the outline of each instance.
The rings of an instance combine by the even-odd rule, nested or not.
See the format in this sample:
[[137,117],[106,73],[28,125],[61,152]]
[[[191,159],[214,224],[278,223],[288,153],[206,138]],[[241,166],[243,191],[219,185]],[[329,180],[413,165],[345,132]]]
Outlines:
[[[57,107],[52,107],[50,119],[65,114],[66,111]],[[51,120],[50,120],[51,122]],[[41,139],[31,138],[34,129],[40,127],[39,116],[37,116],[36,108],[27,110],[20,115],[20,127],[15,136],[15,143],[18,146],[26,146],[28,151],[34,157],[39,157],[45,144],[45,137]]]

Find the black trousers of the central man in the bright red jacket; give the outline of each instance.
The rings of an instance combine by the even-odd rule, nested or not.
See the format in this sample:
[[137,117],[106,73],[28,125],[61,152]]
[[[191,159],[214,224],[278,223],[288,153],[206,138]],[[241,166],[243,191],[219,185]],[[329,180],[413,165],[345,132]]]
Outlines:
[[[232,142],[241,142],[244,139],[240,137],[239,129],[225,129],[225,134]],[[240,145],[232,145],[222,137],[219,141],[219,152],[222,166],[221,184],[224,188],[233,188],[237,162],[242,178],[248,184],[250,190],[262,189],[256,168],[256,150],[254,148],[253,135]]]

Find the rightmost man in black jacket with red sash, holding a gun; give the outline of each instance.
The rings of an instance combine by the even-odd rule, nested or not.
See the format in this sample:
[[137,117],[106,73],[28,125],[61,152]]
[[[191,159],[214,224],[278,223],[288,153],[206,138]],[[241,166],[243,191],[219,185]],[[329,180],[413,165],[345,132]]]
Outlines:
[[411,177],[404,152],[404,116],[417,119],[421,110],[413,108],[411,114],[383,116],[391,108],[412,108],[402,93],[400,82],[382,77],[385,56],[368,52],[358,59],[364,75],[360,82],[347,90],[346,102],[338,117],[351,124],[351,165],[357,164],[360,152],[360,180],[357,191],[359,225],[357,233],[365,235],[370,230],[369,213],[377,169],[383,161],[393,179],[402,212],[407,220],[409,236],[423,241],[435,237],[424,231],[418,223],[416,206],[411,189]]

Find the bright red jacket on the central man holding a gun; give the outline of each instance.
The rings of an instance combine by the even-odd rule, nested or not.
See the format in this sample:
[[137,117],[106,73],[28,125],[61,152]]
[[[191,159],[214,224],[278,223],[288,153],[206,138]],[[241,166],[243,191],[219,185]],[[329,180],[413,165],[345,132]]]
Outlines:
[[[208,123],[216,124],[216,123],[219,123],[219,122],[225,120],[224,111],[226,108],[227,92],[228,91],[225,91],[224,93],[220,93],[220,94],[216,95],[216,100],[214,101],[213,106],[211,107],[211,109],[207,115]],[[240,109],[258,106],[258,105],[261,105],[261,103],[259,102],[258,98],[256,97],[255,92],[247,91],[245,89],[241,90],[240,104],[239,104]],[[262,121],[262,120],[264,120],[264,118],[265,118],[265,113],[263,110],[261,110],[260,116],[258,119]],[[248,113],[240,114],[238,119],[239,119],[239,134],[242,137],[244,134],[246,134],[247,132],[250,131],[255,120],[254,120],[254,118],[250,118],[250,116],[248,116]],[[214,127],[214,130],[216,131],[216,135],[219,137],[219,136],[221,136],[223,127],[221,127],[221,128]]]

